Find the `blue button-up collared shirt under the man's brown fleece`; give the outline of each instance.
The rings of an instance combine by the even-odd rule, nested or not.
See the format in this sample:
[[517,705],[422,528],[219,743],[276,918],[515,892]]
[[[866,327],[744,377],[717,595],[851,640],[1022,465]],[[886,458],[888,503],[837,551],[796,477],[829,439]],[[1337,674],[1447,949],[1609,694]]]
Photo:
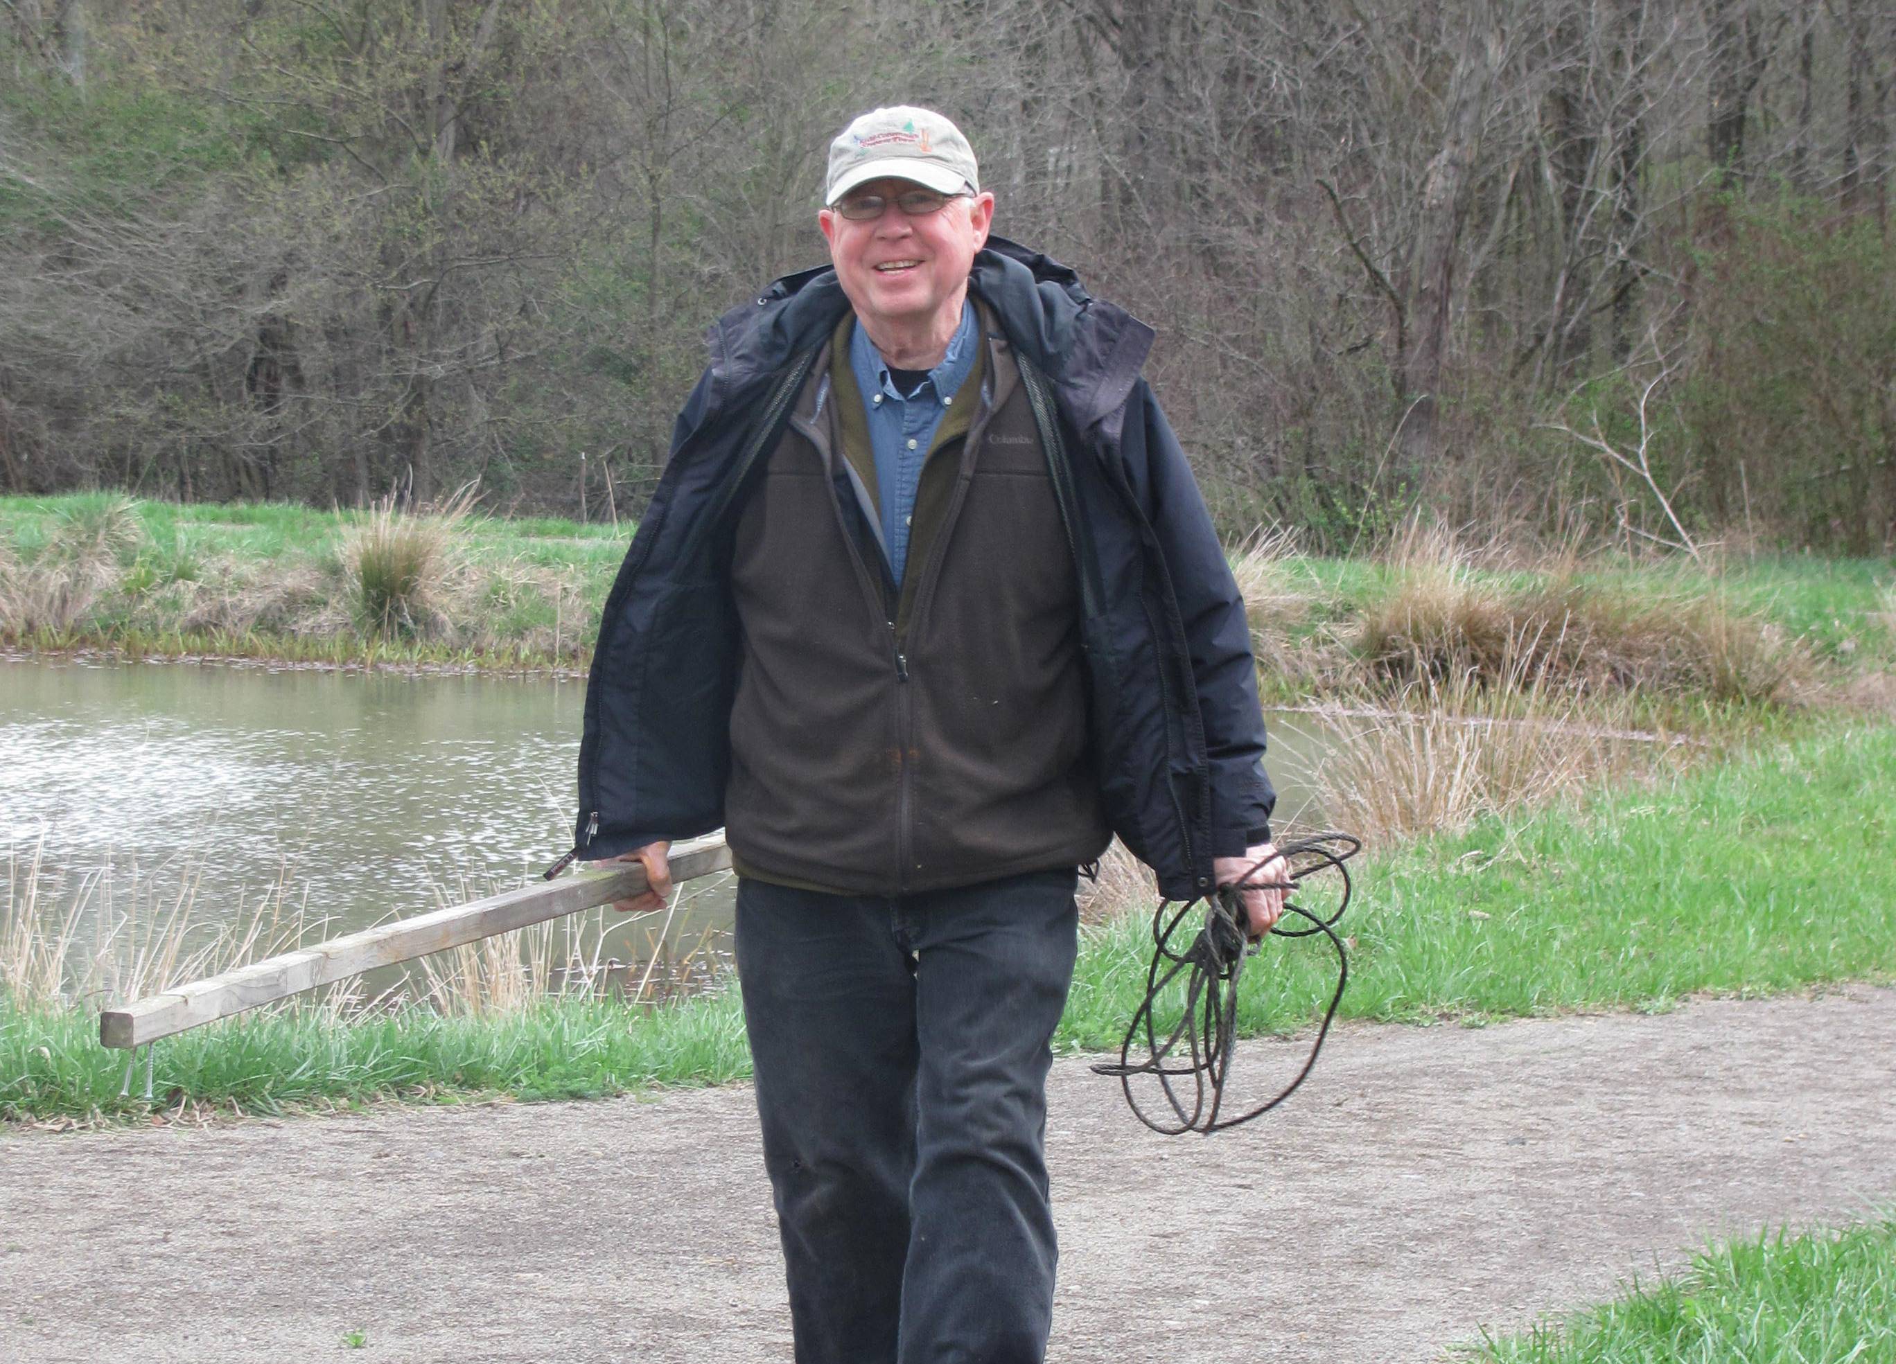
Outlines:
[[948,343],[948,354],[929,369],[929,377],[912,394],[895,390],[889,366],[861,322],[849,337],[849,368],[855,371],[855,386],[863,392],[868,447],[876,457],[882,544],[889,547],[889,574],[901,585],[902,570],[908,566],[908,519],[916,510],[921,462],[929,457],[935,432],[959,396],[961,383],[975,368],[975,303],[971,299],[961,303],[961,326]]

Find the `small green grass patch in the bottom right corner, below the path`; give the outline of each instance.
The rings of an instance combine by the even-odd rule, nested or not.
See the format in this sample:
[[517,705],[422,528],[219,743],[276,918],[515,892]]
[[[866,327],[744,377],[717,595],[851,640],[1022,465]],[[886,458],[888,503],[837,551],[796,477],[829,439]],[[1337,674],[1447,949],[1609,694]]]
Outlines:
[[1896,1358],[1896,1216],[1767,1231],[1693,1256],[1678,1277],[1483,1339],[1479,1364],[1871,1364]]

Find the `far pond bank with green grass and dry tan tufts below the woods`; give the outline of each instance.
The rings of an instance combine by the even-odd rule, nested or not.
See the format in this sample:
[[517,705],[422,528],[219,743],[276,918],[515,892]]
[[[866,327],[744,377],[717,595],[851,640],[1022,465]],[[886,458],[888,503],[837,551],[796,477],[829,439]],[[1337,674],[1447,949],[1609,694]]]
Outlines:
[[[9,496],[0,498],[0,644],[584,674],[631,530],[465,506],[400,515]],[[1253,540],[1232,563],[1261,682],[1285,703],[1399,690],[1416,648],[1473,644],[1471,661],[1492,665],[1479,655],[1509,638],[1560,640],[1557,671],[1610,661],[1621,686],[1752,699],[1777,693],[1778,673],[1797,673],[1801,655],[1847,671],[1896,659],[1887,561],[1536,555],[1416,530],[1356,559]],[[1777,642],[1750,619],[1769,623]],[[1780,655],[1784,644],[1797,657]]]

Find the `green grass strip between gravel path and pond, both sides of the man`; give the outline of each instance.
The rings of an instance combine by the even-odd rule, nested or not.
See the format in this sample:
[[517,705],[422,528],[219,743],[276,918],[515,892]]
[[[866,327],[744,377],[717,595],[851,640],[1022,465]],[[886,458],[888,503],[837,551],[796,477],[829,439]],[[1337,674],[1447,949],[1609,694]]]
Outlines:
[[[1361,868],[1344,1015],[1481,1021],[1896,979],[1892,790],[1896,727],[1832,722],[1657,790],[1403,847]],[[1147,953],[1143,921],[1088,930],[1058,1046],[1117,1046]],[[1268,945],[1246,974],[1244,1031],[1308,1023],[1333,970],[1322,940]],[[246,1110],[377,1093],[592,1095],[747,1065],[728,995],[650,1015],[554,1002],[474,1023],[337,1027],[305,1010],[159,1044],[155,1095],[180,1086]],[[0,1116],[137,1112],[118,1099],[121,1076],[89,1017],[0,1006]]]

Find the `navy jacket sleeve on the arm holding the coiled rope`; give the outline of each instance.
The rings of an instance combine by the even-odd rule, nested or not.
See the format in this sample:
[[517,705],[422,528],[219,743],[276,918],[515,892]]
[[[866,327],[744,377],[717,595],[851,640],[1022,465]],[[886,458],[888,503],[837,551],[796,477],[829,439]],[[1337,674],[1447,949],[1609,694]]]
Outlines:
[[1270,839],[1276,792],[1265,775],[1265,716],[1244,597],[1185,451],[1141,379],[1126,404],[1126,466],[1158,536],[1191,654],[1210,760],[1212,854],[1242,856]]

